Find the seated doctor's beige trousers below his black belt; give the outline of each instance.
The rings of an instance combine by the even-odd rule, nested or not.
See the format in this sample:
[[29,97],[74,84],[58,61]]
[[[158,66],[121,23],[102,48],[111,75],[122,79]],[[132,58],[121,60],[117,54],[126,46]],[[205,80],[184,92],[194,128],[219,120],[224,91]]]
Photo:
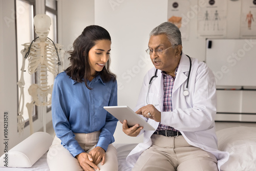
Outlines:
[[152,146],[140,155],[133,171],[218,171],[216,157],[189,145],[183,136],[153,134],[151,139]]

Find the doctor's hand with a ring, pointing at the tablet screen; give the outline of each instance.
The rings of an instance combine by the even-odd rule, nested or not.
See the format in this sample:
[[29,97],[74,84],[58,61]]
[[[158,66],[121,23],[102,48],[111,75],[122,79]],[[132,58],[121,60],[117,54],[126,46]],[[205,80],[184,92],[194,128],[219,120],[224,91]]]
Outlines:
[[159,112],[154,105],[148,104],[141,107],[138,111],[135,112],[138,115],[143,115],[145,118],[150,118],[156,122],[161,121],[161,112]]

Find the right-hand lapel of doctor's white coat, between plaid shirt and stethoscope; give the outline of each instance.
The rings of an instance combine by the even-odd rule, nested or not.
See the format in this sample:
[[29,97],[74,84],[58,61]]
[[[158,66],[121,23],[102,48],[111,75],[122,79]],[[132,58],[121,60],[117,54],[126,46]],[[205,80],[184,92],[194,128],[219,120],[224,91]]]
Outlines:
[[176,79],[174,81],[173,93],[177,89],[179,89],[181,84],[183,84],[187,80],[188,73],[187,74],[185,74],[185,73],[188,72],[188,71],[189,71],[189,59],[184,53],[182,53],[180,63],[179,63],[178,72],[177,72],[177,75],[176,75]]

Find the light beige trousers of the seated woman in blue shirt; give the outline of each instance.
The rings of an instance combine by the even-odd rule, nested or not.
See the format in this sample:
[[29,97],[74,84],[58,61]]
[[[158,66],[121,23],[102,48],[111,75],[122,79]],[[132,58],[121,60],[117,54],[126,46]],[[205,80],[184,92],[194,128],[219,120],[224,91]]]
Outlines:
[[[79,145],[89,153],[96,146],[99,140],[100,132],[94,132],[90,134],[74,133],[75,139]],[[61,140],[55,136],[52,145],[47,154],[47,163],[51,171],[82,171],[78,160],[72,156],[72,154],[61,145]],[[100,171],[118,170],[117,152],[116,148],[110,144],[106,151],[105,164],[101,165],[101,162],[97,165]]]

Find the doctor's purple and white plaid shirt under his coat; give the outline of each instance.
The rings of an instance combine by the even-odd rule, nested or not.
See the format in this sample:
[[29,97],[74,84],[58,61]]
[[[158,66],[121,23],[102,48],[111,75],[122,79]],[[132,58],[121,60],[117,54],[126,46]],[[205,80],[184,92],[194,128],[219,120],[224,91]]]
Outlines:
[[[175,75],[177,74],[178,67],[179,65],[175,70]],[[173,111],[172,95],[173,95],[174,81],[176,76],[172,77],[166,74],[166,72],[164,71],[162,71],[162,74],[163,74],[163,91],[164,91],[163,112]],[[163,125],[160,122],[156,131],[162,131],[162,130],[178,131],[178,130],[175,130],[172,126]]]

